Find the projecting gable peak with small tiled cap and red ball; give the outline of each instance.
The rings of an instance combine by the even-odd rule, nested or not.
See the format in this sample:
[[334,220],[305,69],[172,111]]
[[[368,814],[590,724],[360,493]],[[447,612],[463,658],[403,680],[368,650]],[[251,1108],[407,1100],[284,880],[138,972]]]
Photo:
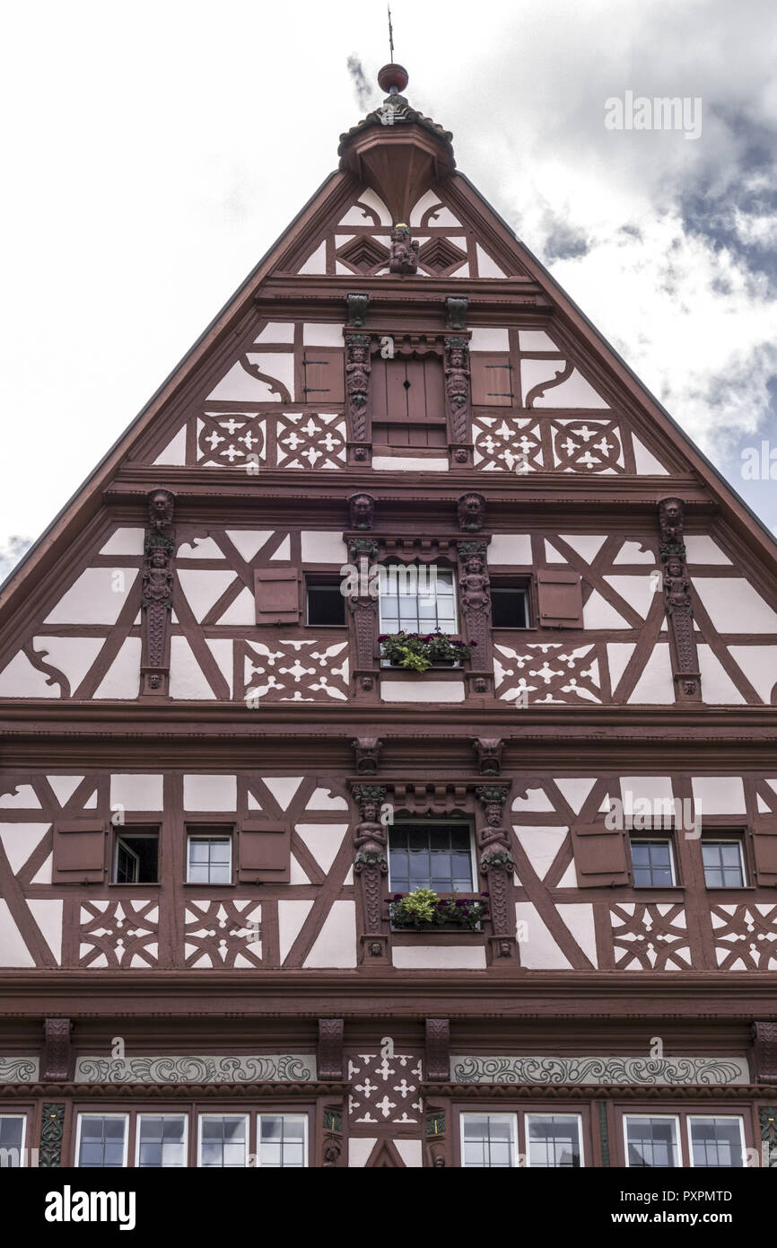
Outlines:
[[402,65],[384,65],[378,82],[388,95],[379,109],[340,135],[340,168],[380,196],[392,222],[405,222],[420,196],[454,171],[453,135],[400,95],[408,85]]

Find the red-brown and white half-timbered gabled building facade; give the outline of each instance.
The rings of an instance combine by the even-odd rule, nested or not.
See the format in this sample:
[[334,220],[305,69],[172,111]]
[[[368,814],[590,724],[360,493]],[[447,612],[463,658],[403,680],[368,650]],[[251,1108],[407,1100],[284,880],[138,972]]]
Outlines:
[[0,1147],[776,1166],[777,548],[380,81],[0,594]]

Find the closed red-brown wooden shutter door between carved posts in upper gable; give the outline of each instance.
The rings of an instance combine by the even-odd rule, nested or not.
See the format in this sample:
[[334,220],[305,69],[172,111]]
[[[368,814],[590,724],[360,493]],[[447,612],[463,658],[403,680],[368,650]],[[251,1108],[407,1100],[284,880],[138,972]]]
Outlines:
[[445,379],[438,354],[373,361],[373,444],[446,447]]

